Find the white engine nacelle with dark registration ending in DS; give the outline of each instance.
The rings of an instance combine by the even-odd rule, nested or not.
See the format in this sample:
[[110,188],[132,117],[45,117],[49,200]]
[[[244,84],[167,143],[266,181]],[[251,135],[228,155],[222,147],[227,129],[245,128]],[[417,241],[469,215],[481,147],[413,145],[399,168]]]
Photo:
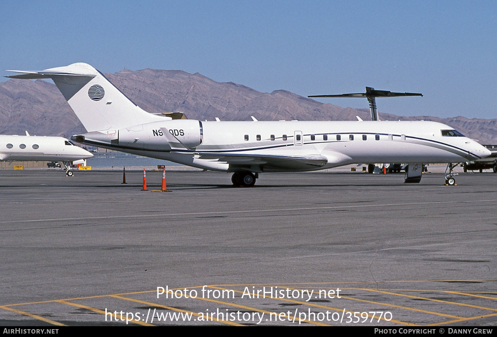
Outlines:
[[202,143],[202,122],[171,120],[135,125],[118,130],[118,143],[145,150],[193,149]]

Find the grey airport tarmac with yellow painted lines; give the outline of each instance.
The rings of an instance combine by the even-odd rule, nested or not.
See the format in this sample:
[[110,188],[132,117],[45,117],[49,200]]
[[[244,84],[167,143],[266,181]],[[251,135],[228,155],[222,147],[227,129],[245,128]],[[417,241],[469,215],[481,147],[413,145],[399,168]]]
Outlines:
[[166,179],[1,171],[0,324],[497,322],[496,174]]

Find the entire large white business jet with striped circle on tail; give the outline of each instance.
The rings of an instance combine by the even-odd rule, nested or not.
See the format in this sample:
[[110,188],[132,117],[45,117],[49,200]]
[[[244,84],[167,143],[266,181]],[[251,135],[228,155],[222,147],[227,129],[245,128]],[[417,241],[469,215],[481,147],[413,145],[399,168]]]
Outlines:
[[[76,142],[165,159],[205,170],[233,172],[236,186],[253,186],[259,173],[313,171],[357,163],[409,163],[405,182],[421,180],[422,164],[453,163],[490,151],[435,122],[201,122],[178,114],[150,114],[95,68],[75,63],[11,78],[51,78],[87,133]],[[179,114],[181,115],[181,114]]]

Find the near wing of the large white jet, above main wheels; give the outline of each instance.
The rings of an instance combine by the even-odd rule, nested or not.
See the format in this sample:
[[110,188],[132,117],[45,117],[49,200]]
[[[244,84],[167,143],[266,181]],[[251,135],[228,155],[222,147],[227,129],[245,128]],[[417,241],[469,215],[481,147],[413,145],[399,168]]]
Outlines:
[[311,155],[276,155],[276,154],[245,154],[198,152],[199,159],[225,162],[232,167],[263,165],[270,169],[304,170],[320,168],[328,163],[328,158],[319,154]]

